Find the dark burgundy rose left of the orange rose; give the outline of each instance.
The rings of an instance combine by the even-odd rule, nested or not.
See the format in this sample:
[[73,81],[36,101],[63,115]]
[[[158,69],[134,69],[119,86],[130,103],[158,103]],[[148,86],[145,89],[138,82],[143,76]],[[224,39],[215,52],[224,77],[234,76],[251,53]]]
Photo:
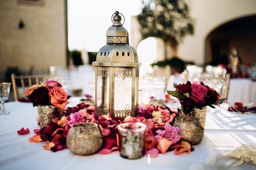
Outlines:
[[48,88],[39,87],[35,89],[30,95],[28,95],[27,98],[34,105],[50,105],[48,92]]

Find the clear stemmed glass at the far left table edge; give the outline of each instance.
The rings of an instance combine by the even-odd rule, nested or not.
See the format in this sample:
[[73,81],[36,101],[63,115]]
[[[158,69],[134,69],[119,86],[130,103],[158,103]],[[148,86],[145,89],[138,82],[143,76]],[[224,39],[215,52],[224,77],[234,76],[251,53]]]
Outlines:
[[9,99],[10,83],[0,83],[0,115],[9,114],[5,111],[5,101]]

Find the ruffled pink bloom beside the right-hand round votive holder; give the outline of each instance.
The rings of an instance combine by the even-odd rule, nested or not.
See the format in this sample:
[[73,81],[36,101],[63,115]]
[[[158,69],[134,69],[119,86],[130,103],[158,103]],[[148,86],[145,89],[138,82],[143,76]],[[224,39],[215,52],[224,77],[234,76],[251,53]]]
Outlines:
[[172,127],[169,123],[166,123],[165,130],[157,130],[158,135],[156,135],[156,138],[158,141],[162,138],[166,138],[175,144],[181,139],[180,132],[178,127]]

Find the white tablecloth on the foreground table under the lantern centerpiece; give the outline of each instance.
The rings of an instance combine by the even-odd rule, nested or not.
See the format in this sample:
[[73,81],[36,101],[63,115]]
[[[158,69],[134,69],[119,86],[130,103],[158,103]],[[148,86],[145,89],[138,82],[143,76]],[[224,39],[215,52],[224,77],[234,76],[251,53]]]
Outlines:
[[[255,114],[237,114],[218,108],[207,114],[206,130],[202,142],[193,146],[191,154],[174,155],[167,152],[158,158],[147,157],[127,160],[118,151],[110,155],[75,156],[68,149],[58,152],[44,150],[44,142],[30,143],[29,137],[38,129],[37,108],[30,103],[9,102],[9,115],[0,115],[0,169],[36,170],[215,170],[209,160],[227,154],[241,144],[256,146]],[[208,109],[209,110],[209,109]],[[21,127],[29,128],[29,135],[17,135]],[[237,169],[255,169],[253,165],[241,165]]]

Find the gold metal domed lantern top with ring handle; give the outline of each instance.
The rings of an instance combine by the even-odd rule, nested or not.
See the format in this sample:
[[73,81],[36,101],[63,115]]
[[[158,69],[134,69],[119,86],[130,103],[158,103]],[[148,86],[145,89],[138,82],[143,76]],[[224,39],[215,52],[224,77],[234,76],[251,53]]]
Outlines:
[[[107,44],[97,53],[93,66],[140,66],[136,50],[129,45],[128,31],[121,23],[120,13],[112,15],[112,26],[108,28]],[[122,15],[122,14],[121,14]],[[123,16],[123,15],[122,15]],[[124,23],[124,22],[123,22]]]

